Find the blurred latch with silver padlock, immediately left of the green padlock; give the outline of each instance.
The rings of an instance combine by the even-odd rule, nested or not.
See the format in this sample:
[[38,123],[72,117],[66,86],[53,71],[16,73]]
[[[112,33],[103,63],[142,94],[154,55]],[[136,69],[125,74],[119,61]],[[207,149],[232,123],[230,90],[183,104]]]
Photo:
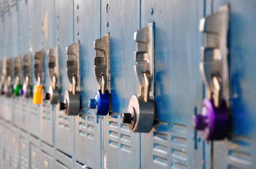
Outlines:
[[13,82],[12,82],[13,59],[7,58],[7,59],[4,59],[3,61],[4,61],[3,74],[5,75],[5,78],[7,77],[7,83],[4,84],[4,96],[11,97],[13,93]]

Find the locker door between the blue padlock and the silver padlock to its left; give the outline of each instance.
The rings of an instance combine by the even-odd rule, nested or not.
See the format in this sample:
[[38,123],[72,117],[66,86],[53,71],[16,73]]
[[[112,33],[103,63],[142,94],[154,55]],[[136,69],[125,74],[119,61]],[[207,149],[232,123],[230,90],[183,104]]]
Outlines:
[[[81,106],[75,117],[75,160],[91,168],[100,168],[101,143],[99,117],[89,110],[88,99],[98,84],[93,67],[93,41],[100,37],[100,1],[74,1],[74,38],[80,43]],[[67,59],[66,59],[67,60]],[[92,163],[93,161],[93,163]]]

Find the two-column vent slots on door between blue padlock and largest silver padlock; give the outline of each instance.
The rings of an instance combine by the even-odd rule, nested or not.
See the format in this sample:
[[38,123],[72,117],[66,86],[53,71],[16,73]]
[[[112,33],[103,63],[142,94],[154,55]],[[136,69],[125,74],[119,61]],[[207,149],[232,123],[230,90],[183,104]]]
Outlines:
[[121,115],[115,112],[109,112],[107,116],[109,124],[109,145],[120,148],[124,152],[131,152],[131,131],[127,124],[120,123]]

